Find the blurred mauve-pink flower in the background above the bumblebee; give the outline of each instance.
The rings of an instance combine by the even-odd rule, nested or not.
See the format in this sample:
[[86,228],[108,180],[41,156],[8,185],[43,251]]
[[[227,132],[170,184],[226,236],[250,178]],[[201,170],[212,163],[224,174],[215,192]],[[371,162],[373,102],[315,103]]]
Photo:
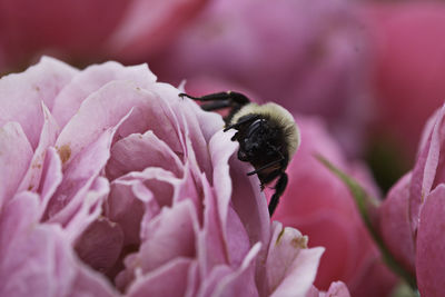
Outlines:
[[217,79],[323,116],[349,151],[367,121],[368,52],[348,1],[215,0],[152,61],[164,80]]

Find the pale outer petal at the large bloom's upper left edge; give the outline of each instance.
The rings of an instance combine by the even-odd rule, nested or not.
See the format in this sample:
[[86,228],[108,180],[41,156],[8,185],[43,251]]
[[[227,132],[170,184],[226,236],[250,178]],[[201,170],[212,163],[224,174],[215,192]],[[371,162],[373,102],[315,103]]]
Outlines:
[[56,96],[76,73],[77,70],[66,63],[42,58],[23,73],[1,78],[0,125],[18,121],[36,148],[44,120],[41,101],[51,110]]

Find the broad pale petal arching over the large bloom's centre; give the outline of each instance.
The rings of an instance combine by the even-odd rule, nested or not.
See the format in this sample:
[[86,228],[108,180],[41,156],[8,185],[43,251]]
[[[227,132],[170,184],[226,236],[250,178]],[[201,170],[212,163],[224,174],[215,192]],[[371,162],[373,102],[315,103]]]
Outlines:
[[131,81],[112,81],[92,92],[60,132],[56,145],[59,149],[69,146],[72,158],[120,121],[123,122],[117,138],[152,130],[174,151],[182,150],[177,123],[164,97],[161,99],[158,93],[141,89]]

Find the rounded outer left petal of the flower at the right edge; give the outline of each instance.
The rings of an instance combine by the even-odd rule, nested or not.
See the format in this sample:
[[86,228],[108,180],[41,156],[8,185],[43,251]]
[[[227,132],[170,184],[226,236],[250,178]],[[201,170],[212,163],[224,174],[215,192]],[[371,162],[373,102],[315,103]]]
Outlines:
[[409,220],[412,175],[400,178],[379,208],[379,229],[386,247],[409,271],[415,271],[415,239]]

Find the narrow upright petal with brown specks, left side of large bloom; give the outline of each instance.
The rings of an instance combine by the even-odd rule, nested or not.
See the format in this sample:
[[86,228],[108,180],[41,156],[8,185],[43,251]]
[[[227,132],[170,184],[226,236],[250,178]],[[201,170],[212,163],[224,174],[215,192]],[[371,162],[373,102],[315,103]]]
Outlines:
[[39,188],[46,151],[50,146],[55,145],[57,135],[59,132],[59,126],[43,102],[41,102],[41,108],[44,120],[40,133],[39,145],[34,150],[30,167],[28,168],[28,171],[24,175],[18,191],[36,191]]

